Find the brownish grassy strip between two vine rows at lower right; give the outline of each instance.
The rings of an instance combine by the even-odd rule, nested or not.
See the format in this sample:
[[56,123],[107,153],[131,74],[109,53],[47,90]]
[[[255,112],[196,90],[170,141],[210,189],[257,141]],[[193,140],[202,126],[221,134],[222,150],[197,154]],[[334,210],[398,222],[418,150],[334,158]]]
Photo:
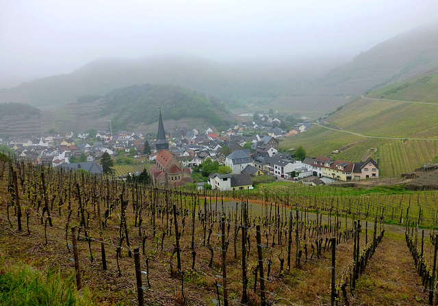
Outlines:
[[358,284],[352,305],[428,305],[428,294],[400,233],[385,233]]

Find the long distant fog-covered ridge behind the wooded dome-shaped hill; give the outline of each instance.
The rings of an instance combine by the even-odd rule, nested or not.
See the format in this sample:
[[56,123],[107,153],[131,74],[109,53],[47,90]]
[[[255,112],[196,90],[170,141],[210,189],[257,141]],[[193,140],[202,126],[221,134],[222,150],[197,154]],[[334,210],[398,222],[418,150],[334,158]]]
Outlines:
[[[317,71],[326,71],[322,63]],[[312,71],[313,73],[313,71]],[[96,60],[68,75],[56,75],[0,90],[0,101],[29,103],[50,109],[83,95],[104,95],[138,84],[174,84],[229,103],[270,101],[307,81],[306,68],[296,65],[222,64],[193,56],[155,56],[134,60]]]

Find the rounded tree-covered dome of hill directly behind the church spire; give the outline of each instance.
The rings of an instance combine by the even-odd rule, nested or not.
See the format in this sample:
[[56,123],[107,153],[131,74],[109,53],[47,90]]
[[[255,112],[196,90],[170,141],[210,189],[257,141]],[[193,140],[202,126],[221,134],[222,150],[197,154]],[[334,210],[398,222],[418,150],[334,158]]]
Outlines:
[[146,125],[157,121],[159,109],[166,120],[205,119],[216,127],[228,125],[225,105],[194,90],[175,85],[136,85],[113,90],[103,97],[103,116],[113,115],[115,124]]

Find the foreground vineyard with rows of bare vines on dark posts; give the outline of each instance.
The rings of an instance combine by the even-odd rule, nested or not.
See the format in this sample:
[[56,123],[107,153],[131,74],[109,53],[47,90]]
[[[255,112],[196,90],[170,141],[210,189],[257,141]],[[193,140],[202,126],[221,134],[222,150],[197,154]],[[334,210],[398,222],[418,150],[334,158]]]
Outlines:
[[427,305],[396,224],[435,226],[437,201],[298,184],[193,194],[1,163],[1,252],[13,262],[1,268],[76,267],[96,305]]

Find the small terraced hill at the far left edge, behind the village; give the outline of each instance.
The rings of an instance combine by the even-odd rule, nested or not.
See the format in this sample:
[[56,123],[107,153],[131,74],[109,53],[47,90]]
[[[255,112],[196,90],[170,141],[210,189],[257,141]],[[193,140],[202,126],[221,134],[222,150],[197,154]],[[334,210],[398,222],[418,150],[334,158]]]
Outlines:
[[42,112],[22,103],[0,103],[0,136],[41,133]]

